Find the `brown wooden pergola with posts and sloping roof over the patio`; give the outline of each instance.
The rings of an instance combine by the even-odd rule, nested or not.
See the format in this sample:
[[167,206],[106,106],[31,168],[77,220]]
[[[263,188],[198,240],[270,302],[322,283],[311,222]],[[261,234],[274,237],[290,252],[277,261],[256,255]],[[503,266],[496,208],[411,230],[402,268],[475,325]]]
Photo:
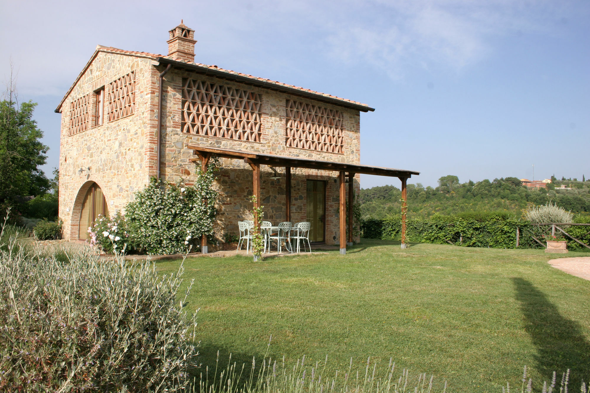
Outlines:
[[[243,159],[245,163],[248,163],[253,170],[253,194],[256,196],[254,207],[260,207],[260,165],[284,167],[286,173],[286,221],[291,221],[291,168],[307,168],[307,169],[319,169],[322,171],[333,171],[339,172],[340,180],[340,254],[346,254],[346,176],[349,177],[349,188],[348,204],[348,244],[352,245],[352,198],[353,198],[353,182],[352,179],[356,173],[365,175],[378,175],[378,176],[390,176],[399,178],[402,182],[402,204],[405,207],[407,201],[407,180],[412,175],[419,175],[419,172],[406,171],[404,169],[393,169],[393,168],[382,168],[381,166],[369,166],[369,165],[358,165],[351,163],[333,162],[333,161],[319,161],[311,160],[299,157],[289,156],[278,156],[272,154],[263,154],[257,152],[248,152],[244,150],[230,150],[230,149],[219,149],[211,148],[208,146],[199,145],[188,145],[188,149],[194,150],[194,154],[198,158],[193,158],[191,161],[201,161],[201,168],[203,171],[207,171],[209,159],[212,156],[230,159]],[[347,174],[348,173],[348,174]],[[254,222],[258,228],[260,228],[260,222],[256,220]],[[405,243],[405,230],[406,230],[406,215],[405,209],[402,209],[402,248],[406,248]],[[201,250],[203,253],[207,253],[207,237],[205,235],[201,239]]]

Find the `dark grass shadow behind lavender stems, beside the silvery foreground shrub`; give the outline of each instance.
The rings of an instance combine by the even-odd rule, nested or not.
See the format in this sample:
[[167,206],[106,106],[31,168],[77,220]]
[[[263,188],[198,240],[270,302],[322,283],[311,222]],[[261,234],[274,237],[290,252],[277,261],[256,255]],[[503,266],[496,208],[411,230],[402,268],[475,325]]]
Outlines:
[[[253,352],[253,353],[245,353],[239,351],[232,351],[231,349],[214,346],[211,344],[203,344],[197,348],[199,351],[198,356],[198,364],[199,367],[193,368],[191,370],[191,379],[194,379],[195,382],[195,391],[199,391],[199,381],[201,377],[203,381],[208,381],[209,384],[212,383],[213,379],[215,378],[215,370],[217,368],[217,381],[219,382],[219,375],[222,371],[225,371],[225,375],[227,375],[227,369],[229,366],[234,365],[235,363],[235,373],[237,374],[236,377],[240,376],[238,384],[238,390],[244,387],[245,384],[250,379],[250,373],[252,371],[252,359],[255,358],[255,369],[254,369],[254,378],[253,384],[257,381],[258,376],[258,369],[260,368],[263,359],[264,353]],[[230,358],[231,354],[231,358]],[[244,366],[242,369],[242,365]],[[241,375],[240,375],[241,374]],[[234,380],[235,381],[235,380]],[[192,385],[192,384],[191,384]],[[192,391],[192,390],[188,390]]]

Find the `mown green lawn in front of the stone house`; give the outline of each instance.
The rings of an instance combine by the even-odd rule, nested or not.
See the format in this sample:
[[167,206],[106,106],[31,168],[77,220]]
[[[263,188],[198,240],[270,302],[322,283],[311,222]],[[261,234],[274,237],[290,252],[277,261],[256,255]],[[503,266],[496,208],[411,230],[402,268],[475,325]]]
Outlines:
[[[189,308],[199,312],[204,365],[270,355],[328,368],[393,357],[450,391],[501,391],[531,369],[535,388],[571,368],[590,379],[590,281],[546,263],[563,254],[364,240],[346,256],[192,258]],[[587,256],[569,253],[567,257]],[[160,271],[180,261],[158,262]],[[364,368],[363,368],[364,369]]]

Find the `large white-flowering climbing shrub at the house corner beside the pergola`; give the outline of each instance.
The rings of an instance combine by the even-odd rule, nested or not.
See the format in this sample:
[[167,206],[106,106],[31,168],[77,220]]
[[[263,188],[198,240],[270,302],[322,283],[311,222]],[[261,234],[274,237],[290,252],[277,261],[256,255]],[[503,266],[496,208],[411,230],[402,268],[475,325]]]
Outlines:
[[211,185],[215,165],[200,169],[194,186],[178,186],[151,178],[125,209],[128,231],[136,247],[148,254],[181,254],[211,236],[217,192]]

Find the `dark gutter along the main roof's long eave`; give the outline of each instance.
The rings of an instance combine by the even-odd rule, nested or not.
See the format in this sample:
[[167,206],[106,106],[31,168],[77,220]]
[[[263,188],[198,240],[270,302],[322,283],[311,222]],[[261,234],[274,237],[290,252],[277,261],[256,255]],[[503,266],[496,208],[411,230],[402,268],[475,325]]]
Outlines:
[[245,83],[245,84],[250,84],[253,86],[264,87],[266,89],[278,90],[278,91],[282,91],[283,93],[293,94],[296,96],[306,97],[306,98],[309,98],[312,100],[318,100],[318,101],[327,102],[327,103],[337,105],[337,106],[343,106],[343,107],[346,107],[349,109],[359,110],[360,112],[374,112],[375,111],[374,108],[369,107],[369,106],[354,104],[354,103],[346,102],[343,100],[332,99],[330,97],[321,96],[320,94],[309,93],[309,91],[291,89],[290,87],[280,86],[275,83],[270,83],[270,82],[261,81],[261,80],[255,80],[253,78],[230,74],[230,73],[227,73],[224,71],[214,70],[212,68],[204,68],[204,67],[194,66],[193,64],[186,64],[186,63],[182,63],[182,61],[169,60],[169,59],[163,58],[163,57],[160,57],[158,60],[160,61],[160,64],[173,64],[175,67],[186,68],[187,70],[196,71],[198,73],[209,74],[212,76],[216,76],[219,78],[225,78],[228,80],[235,80],[235,81]]

